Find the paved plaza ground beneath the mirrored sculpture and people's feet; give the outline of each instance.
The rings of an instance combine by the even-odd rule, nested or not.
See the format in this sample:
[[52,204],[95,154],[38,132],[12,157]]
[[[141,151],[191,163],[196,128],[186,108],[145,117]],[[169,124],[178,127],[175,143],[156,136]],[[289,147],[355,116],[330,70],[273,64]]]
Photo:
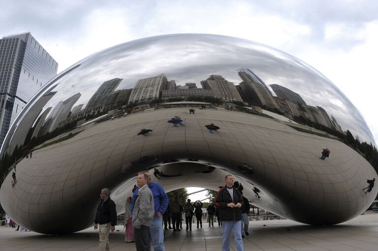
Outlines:
[[[191,232],[166,231],[167,251],[221,251],[221,227],[194,228]],[[122,226],[110,234],[112,251],[135,251],[124,242]],[[246,251],[377,251],[378,214],[367,213],[346,223],[312,226],[290,220],[250,222],[249,236],[243,240]],[[0,227],[1,251],[96,251],[98,234],[92,228],[60,236],[19,232]],[[231,250],[236,251],[234,242]]]

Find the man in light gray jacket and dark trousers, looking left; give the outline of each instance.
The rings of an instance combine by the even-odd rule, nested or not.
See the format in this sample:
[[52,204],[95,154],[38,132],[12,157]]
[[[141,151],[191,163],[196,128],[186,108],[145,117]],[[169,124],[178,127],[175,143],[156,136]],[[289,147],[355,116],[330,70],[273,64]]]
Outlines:
[[136,179],[139,187],[134,199],[132,210],[132,226],[134,227],[134,241],[137,251],[150,251],[150,226],[155,216],[154,196],[148,187],[147,174],[140,172]]

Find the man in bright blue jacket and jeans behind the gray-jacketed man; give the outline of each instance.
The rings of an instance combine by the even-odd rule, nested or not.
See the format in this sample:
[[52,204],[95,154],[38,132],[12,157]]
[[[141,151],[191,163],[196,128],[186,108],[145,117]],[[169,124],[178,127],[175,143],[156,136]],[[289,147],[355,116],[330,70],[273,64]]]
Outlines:
[[[154,246],[154,251],[165,251],[164,247],[164,229],[163,229],[163,214],[168,207],[168,196],[165,194],[164,189],[155,182],[151,182],[151,174],[148,170],[143,171],[149,179],[149,188],[154,195],[155,204],[155,217],[152,225],[150,226],[151,241]],[[138,194],[137,188],[132,195],[131,199],[131,214],[134,205],[135,195]]]

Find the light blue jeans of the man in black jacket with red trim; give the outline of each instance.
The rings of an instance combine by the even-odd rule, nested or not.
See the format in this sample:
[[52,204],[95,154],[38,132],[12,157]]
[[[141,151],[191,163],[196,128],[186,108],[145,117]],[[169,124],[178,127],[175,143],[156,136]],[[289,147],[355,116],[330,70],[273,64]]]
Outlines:
[[243,239],[241,233],[242,221],[231,222],[222,221],[223,223],[223,237],[222,237],[222,251],[230,251],[231,246],[231,229],[234,229],[234,237],[237,251],[244,251]]

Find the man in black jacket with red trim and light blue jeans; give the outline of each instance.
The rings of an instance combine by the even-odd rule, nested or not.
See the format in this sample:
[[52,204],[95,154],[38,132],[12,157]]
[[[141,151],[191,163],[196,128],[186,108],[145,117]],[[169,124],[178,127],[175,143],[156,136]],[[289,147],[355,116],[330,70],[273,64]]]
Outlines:
[[226,185],[222,187],[215,198],[219,208],[219,216],[223,223],[222,251],[229,251],[231,245],[231,230],[234,230],[237,251],[244,251],[241,233],[243,196],[239,190],[232,187],[234,177],[228,174],[224,177]]

